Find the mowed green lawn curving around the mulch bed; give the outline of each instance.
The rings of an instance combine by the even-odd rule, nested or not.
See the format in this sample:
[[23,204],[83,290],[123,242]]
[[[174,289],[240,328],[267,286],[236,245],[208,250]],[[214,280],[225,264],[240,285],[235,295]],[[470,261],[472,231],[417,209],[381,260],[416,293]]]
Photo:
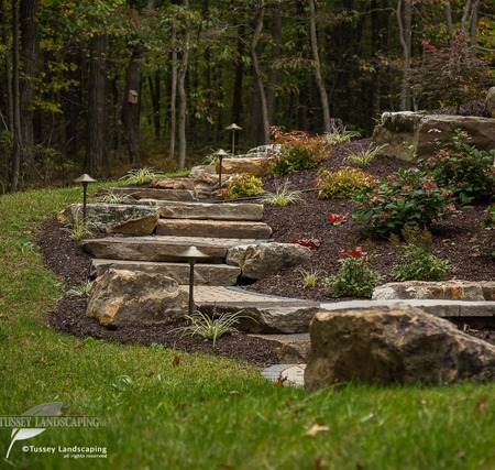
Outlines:
[[[0,416],[62,402],[65,415],[98,416],[106,426],[50,428],[16,441],[8,460],[11,429],[0,429],[0,468],[495,468],[492,383],[308,393],[233,360],[47,328],[64,286],[43,269],[33,232],[80,193],[0,197]],[[328,429],[311,437],[315,424]],[[76,461],[23,446],[100,447],[107,458]]]

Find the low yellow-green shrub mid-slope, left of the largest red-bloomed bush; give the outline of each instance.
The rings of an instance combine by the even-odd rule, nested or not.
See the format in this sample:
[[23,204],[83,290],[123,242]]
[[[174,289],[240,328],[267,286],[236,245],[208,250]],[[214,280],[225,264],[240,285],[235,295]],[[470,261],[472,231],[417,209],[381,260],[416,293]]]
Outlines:
[[337,172],[322,170],[316,181],[318,199],[350,199],[356,189],[371,189],[375,178],[362,170],[344,166]]

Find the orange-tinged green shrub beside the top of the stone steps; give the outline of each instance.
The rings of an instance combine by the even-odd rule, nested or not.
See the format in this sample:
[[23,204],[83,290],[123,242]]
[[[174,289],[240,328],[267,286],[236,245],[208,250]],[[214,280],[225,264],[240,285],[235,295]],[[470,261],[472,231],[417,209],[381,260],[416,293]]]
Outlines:
[[310,136],[304,131],[283,132],[275,125],[271,132],[273,142],[280,145],[280,152],[272,164],[275,176],[314,168],[329,154],[329,143],[324,138]]

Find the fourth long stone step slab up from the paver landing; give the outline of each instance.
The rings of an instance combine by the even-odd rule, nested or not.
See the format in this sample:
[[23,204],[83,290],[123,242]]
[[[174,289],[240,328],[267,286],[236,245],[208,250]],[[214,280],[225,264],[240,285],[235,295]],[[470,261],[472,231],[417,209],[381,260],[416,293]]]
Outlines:
[[263,204],[184,203],[142,199],[141,205],[156,206],[164,219],[263,220]]

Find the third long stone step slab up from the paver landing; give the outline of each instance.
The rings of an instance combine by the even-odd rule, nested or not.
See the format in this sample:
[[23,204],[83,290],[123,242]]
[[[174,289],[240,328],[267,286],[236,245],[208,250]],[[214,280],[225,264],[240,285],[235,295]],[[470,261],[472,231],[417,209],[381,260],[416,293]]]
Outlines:
[[272,229],[266,223],[251,221],[160,219],[156,234],[267,239],[272,234]]

